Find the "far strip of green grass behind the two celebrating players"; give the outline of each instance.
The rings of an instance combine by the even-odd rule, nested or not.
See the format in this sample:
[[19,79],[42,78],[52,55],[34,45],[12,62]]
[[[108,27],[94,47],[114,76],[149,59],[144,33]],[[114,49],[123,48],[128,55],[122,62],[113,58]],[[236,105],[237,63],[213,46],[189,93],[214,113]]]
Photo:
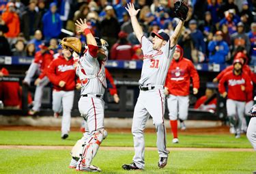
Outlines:
[[[81,132],[70,132],[66,140],[60,139],[59,131],[0,131],[0,145],[74,145],[81,139]],[[171,143],[172,136],[167,135],[167,147],[220,147],[220,148],[252,148],[242,135],[235,139],[231,134],[221,135],[180,135],[179,144]],[[131,133],[109,133],[103,146],[132,147]],[[156,134],[145,134],[145,146],[156,147]]]

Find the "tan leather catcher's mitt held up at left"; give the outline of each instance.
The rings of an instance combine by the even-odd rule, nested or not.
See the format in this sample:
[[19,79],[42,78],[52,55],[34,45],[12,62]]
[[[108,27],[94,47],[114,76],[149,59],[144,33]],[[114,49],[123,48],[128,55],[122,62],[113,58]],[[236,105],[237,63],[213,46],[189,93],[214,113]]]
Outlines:
[[59,44],[61,44],[62,48],[71,48],[77,54],[79,54],[82,49],[82,43],[79,38],[63,38]]

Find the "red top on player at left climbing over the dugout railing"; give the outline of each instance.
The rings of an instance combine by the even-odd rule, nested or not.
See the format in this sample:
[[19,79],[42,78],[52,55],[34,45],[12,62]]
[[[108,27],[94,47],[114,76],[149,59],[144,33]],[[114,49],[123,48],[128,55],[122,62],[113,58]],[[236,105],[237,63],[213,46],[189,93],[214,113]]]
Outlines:
[[46,51],[45,53],[41,53],[41,51],[38,51],[37,53],[35,53],[35,59],[33,62],[40,65],[40,79],[46,76],[47,68],[48,65],[50,65],[51,61],[53,61],[53,54],[51,54],[49,51]]

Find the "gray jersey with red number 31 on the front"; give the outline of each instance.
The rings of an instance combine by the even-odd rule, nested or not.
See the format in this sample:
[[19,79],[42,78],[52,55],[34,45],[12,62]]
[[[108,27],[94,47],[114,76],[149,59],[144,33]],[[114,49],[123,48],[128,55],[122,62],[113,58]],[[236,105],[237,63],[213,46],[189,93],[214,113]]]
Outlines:
[[176,46],[170,48],[170,40],[160,50],[154,50],[153,44],[143,35],[141,49],[143,50],[143,66],[139,85],[165,85],[165,78],[173,58]]

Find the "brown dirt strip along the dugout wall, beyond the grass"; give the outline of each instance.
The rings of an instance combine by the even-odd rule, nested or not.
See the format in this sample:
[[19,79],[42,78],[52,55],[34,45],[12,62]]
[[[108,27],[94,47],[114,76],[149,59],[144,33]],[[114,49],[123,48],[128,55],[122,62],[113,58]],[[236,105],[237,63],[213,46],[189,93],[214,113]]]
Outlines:
[[[0,126],[0,130],[20,130],[20,131],[53,131],[61,130],[60,127],[43,127],[43,126]],[[130,128],[106,128],[108,132],[131,132]],[[71,131],[80,131],[79,128],[71,128]],[[154,133],[154,129],[147,128],[145,132]],[[167,129],[167,132],[171,130]],[[216,128],[188,128],[180,131],[180,134],[229,134],[229,128],[227,126],[221,126]]]

